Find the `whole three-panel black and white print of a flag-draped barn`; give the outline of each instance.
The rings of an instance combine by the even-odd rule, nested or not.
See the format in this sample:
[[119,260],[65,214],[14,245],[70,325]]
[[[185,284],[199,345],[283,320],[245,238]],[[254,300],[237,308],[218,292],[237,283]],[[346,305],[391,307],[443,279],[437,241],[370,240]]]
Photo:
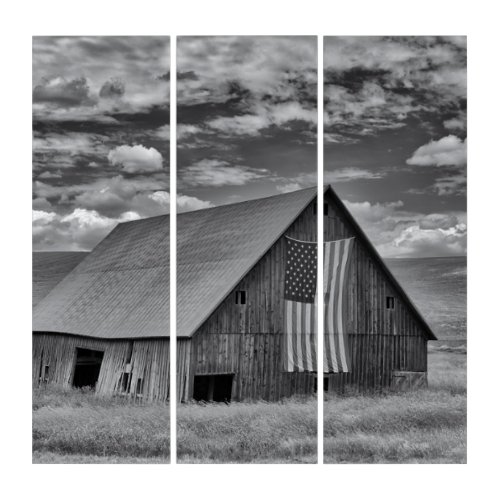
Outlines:
[[174,40],[32,38],[32,463],[467,463],[467,37]]

